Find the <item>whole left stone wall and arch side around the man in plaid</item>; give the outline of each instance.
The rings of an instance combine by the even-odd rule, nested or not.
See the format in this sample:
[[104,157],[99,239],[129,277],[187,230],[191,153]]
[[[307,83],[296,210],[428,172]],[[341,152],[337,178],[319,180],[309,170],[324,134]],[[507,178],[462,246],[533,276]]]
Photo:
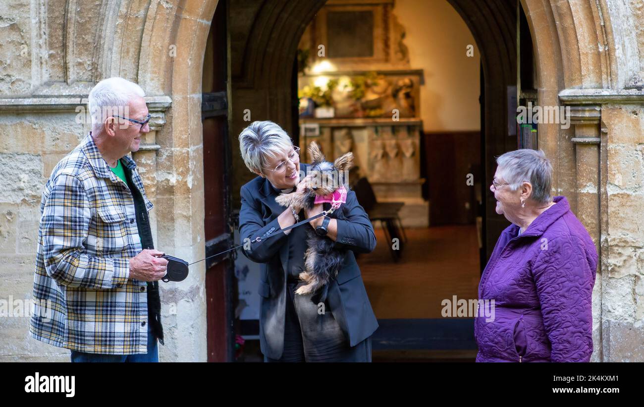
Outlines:
[[[39,204],[53,166],[88,131],[77,120],[91,86],[121,76],[146,91],[151,132],[133,154],[155,247],[204,257],[201,86],[216,0],[3,1],[0,9],[0,299],[32,296]],[[161,283],[162,361],[207,359],[204,263]],[[28,334],[28,317],[0,317],[0,361],[68,361]]]

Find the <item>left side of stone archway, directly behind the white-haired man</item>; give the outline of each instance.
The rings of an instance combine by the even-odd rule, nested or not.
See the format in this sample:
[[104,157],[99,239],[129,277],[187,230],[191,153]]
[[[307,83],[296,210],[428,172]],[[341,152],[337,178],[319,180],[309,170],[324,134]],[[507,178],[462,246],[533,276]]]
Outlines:
[[[156,110],[146,146],[134,154],[155,204],[156,247],[190,261],[205,252],[202,69],[217,3],[168,0],[142,6],[127,0],[96,16],[104,23],[95,31],[94,81],[116,75],[134,80]],[[162,285],[167,338],[160,346],[162,360],[207,360],[204,263],[190,272],[181,284]]]

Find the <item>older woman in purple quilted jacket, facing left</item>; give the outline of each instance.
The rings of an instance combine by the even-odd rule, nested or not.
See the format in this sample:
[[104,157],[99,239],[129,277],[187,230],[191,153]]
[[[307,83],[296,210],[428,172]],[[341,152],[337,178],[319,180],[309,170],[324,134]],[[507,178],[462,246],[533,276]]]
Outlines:
[[[597,251],[564,196],[550,196],[543,151],[497,158],[490,190],[512,224],[478,286],[478,362],[587,362]],[[483,309],[494,307],[494,312]]]

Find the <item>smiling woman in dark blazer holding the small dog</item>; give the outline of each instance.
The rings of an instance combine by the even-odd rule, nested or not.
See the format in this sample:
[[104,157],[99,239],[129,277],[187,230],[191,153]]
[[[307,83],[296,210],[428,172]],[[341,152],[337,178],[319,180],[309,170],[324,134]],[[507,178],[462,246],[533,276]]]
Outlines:
[[[300,164],[299,148],[273,122],[253,122],[239,140],[244,163],[258,175],[242,186],[239,230],[249,243],[243,254],[261,265],[258,292],[264,360],[370,362],[371,335],[378,323],[354,252],[373,251],[375,234],[354,191],[348,190],[346,203],[329,218],[280,232],[323,211],[323,204],[317,204],[296,213],[275,202],[280,193],[307,186],[310,166]],[[307,228],[325,229],[334,247],[346,249],[343,266],[328,284],[323,301],[316,293],[295,293],[303,285],[299,274],[305,270]]]

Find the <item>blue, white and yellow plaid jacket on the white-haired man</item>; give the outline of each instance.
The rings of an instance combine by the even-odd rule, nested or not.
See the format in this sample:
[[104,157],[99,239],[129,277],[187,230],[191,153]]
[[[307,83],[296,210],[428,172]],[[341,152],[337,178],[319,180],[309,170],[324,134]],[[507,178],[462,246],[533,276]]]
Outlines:
[[[121,162],[149,211],[137,165],[127,155]],[[88,135],[44,187],[32,337],[80,352],[147,353],[147,283],[129,278],[140,251],[132,194]]]

